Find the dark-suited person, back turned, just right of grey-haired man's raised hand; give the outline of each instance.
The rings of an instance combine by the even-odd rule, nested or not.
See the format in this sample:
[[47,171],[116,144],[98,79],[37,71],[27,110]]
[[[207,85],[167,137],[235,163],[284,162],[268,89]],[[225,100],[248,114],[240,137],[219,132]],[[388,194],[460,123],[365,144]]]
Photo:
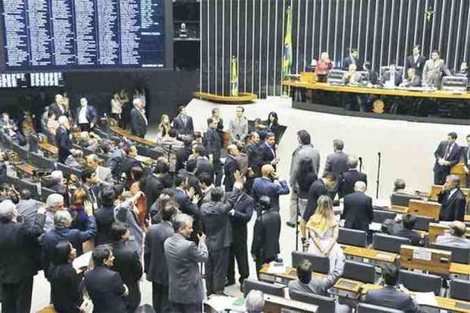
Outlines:
[[111,225],[114,218],[114,201],[116,192],[113,188],[103,188],[101,191],[101,207],[95,211],[96,236],[95,246],[111,243]]

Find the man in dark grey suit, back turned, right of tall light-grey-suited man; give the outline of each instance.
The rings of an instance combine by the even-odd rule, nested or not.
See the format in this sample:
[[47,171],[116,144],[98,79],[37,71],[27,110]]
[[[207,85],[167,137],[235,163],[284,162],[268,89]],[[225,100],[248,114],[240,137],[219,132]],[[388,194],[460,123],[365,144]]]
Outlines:
[[327,161],[324,163],[322,177],[325,177],[330,172],[335,175],[335,184],[328,189],[331,200],[334,200],[336,193],[338,193],[338,189],[340,188],[341,175],[343,175],[343,172],[349,169],[347,166],[347,154],[343,152],[344,146],[345,144],[342,140],[335,139],[333,141],[334,153],[329,154]]

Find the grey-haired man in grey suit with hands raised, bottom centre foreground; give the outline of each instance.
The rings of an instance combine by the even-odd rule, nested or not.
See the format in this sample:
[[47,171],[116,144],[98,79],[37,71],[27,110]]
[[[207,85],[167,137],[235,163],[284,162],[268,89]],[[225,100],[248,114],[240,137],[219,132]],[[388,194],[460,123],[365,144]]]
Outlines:
[[200,313],[204,287],[198,263],[207,262],[209,259],[205,234],[198,234],[198,246],[188,240],[193,232],[193,218],[187,214],[175,216],[173,230],[175,234],[164,243],[172,312]]

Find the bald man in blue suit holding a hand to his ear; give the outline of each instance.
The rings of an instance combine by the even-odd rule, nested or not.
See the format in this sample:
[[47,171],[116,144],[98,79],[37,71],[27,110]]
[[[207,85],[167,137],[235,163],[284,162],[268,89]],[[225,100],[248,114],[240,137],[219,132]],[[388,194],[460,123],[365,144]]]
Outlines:
[[279,175],[274,172],[274,168],[270,164],[265,164],[261,168],[262,177],[258,177],[253,182],[251,195],[255,202],[258,202],[263,195],[267,195],[271,199],[272,209],[279,211],[279,195],[288,195],[290,189],[285,179],[280,180]]

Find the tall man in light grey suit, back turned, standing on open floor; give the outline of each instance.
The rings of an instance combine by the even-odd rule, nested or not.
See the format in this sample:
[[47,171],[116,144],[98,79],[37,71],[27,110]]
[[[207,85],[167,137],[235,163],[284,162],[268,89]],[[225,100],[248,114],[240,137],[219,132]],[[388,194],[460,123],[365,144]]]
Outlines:
[[[312,160],[313,170],[315,175],[318,176],[318,170],[320,170],[320,152],[318,149],[313,147],[311,144],[310,134],[305,129],[297,131],[297,141],[299,146],[292,153],[292,159],[290,161],[290,174],[289,174],[289,186],[294,191],[290,193],[290,219],[288,225],[295,227],[297,223],[297,203],[299,192],[299,184],[297,183],[297,177],[299,176],[300,163],[306,158]],[[304,209],[300,209],[301,212]]]

